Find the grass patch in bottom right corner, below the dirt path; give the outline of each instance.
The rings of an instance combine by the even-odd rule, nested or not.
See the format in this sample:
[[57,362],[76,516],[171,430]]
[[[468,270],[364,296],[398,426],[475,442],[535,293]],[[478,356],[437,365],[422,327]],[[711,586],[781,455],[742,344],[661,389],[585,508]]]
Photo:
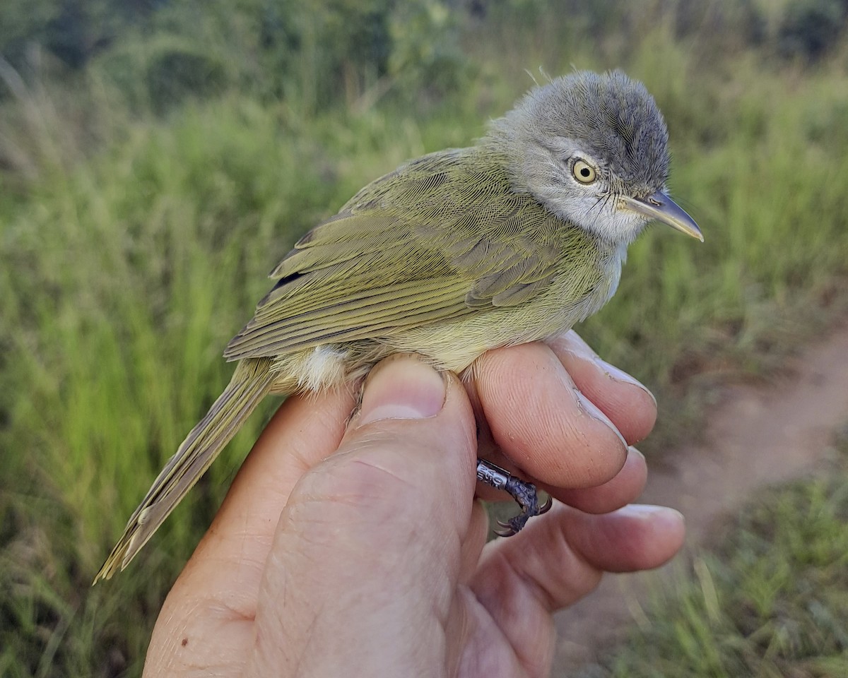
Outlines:
[[818,475],[758,492],[641,629],[581,678],[848,675],[848,429]]

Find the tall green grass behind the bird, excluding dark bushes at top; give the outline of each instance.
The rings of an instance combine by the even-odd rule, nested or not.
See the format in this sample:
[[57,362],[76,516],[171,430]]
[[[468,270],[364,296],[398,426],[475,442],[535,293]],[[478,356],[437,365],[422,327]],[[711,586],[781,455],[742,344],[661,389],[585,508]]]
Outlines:
[[672,192],[706,243],[652,229],[582,330],[660,394],[658,440],[692,435],[713,381],[772,374],[844,308],[838,59],[801,72],[756,53],[708,58],[662,25],[621,43],[573,27],[563,42],[544,25],[536,39],[483,31],[475,78],[418,107],[385,97],[306,115],[232,92],[156,117],[129,111],[96,73],[2,103],[0,675],[140,672],[165,592],[274,403],[131,570],[89,584],[226,383],[220,351],[265,272],[365,182],[480,136],[531,84],[525,67],[623,65],[667,114]]

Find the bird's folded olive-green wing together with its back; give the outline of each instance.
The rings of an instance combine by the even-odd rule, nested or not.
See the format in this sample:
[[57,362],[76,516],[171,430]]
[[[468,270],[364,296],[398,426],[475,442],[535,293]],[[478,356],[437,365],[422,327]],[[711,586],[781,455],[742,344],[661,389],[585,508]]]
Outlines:
[[505,164],[474,150],[404,165],[301,238],[226,358],[392,336],[543,289],[573,227],[511,192]]

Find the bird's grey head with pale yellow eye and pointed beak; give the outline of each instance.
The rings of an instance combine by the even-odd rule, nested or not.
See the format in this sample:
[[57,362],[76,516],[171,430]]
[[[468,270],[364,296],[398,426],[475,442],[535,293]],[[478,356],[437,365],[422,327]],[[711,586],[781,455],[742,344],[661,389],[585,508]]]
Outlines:
[[573,73],[534,88],[488,134],[516,190],[611,244],[651,219],[700,238],[665,194],[666,122],[642,83],[616,70]]

